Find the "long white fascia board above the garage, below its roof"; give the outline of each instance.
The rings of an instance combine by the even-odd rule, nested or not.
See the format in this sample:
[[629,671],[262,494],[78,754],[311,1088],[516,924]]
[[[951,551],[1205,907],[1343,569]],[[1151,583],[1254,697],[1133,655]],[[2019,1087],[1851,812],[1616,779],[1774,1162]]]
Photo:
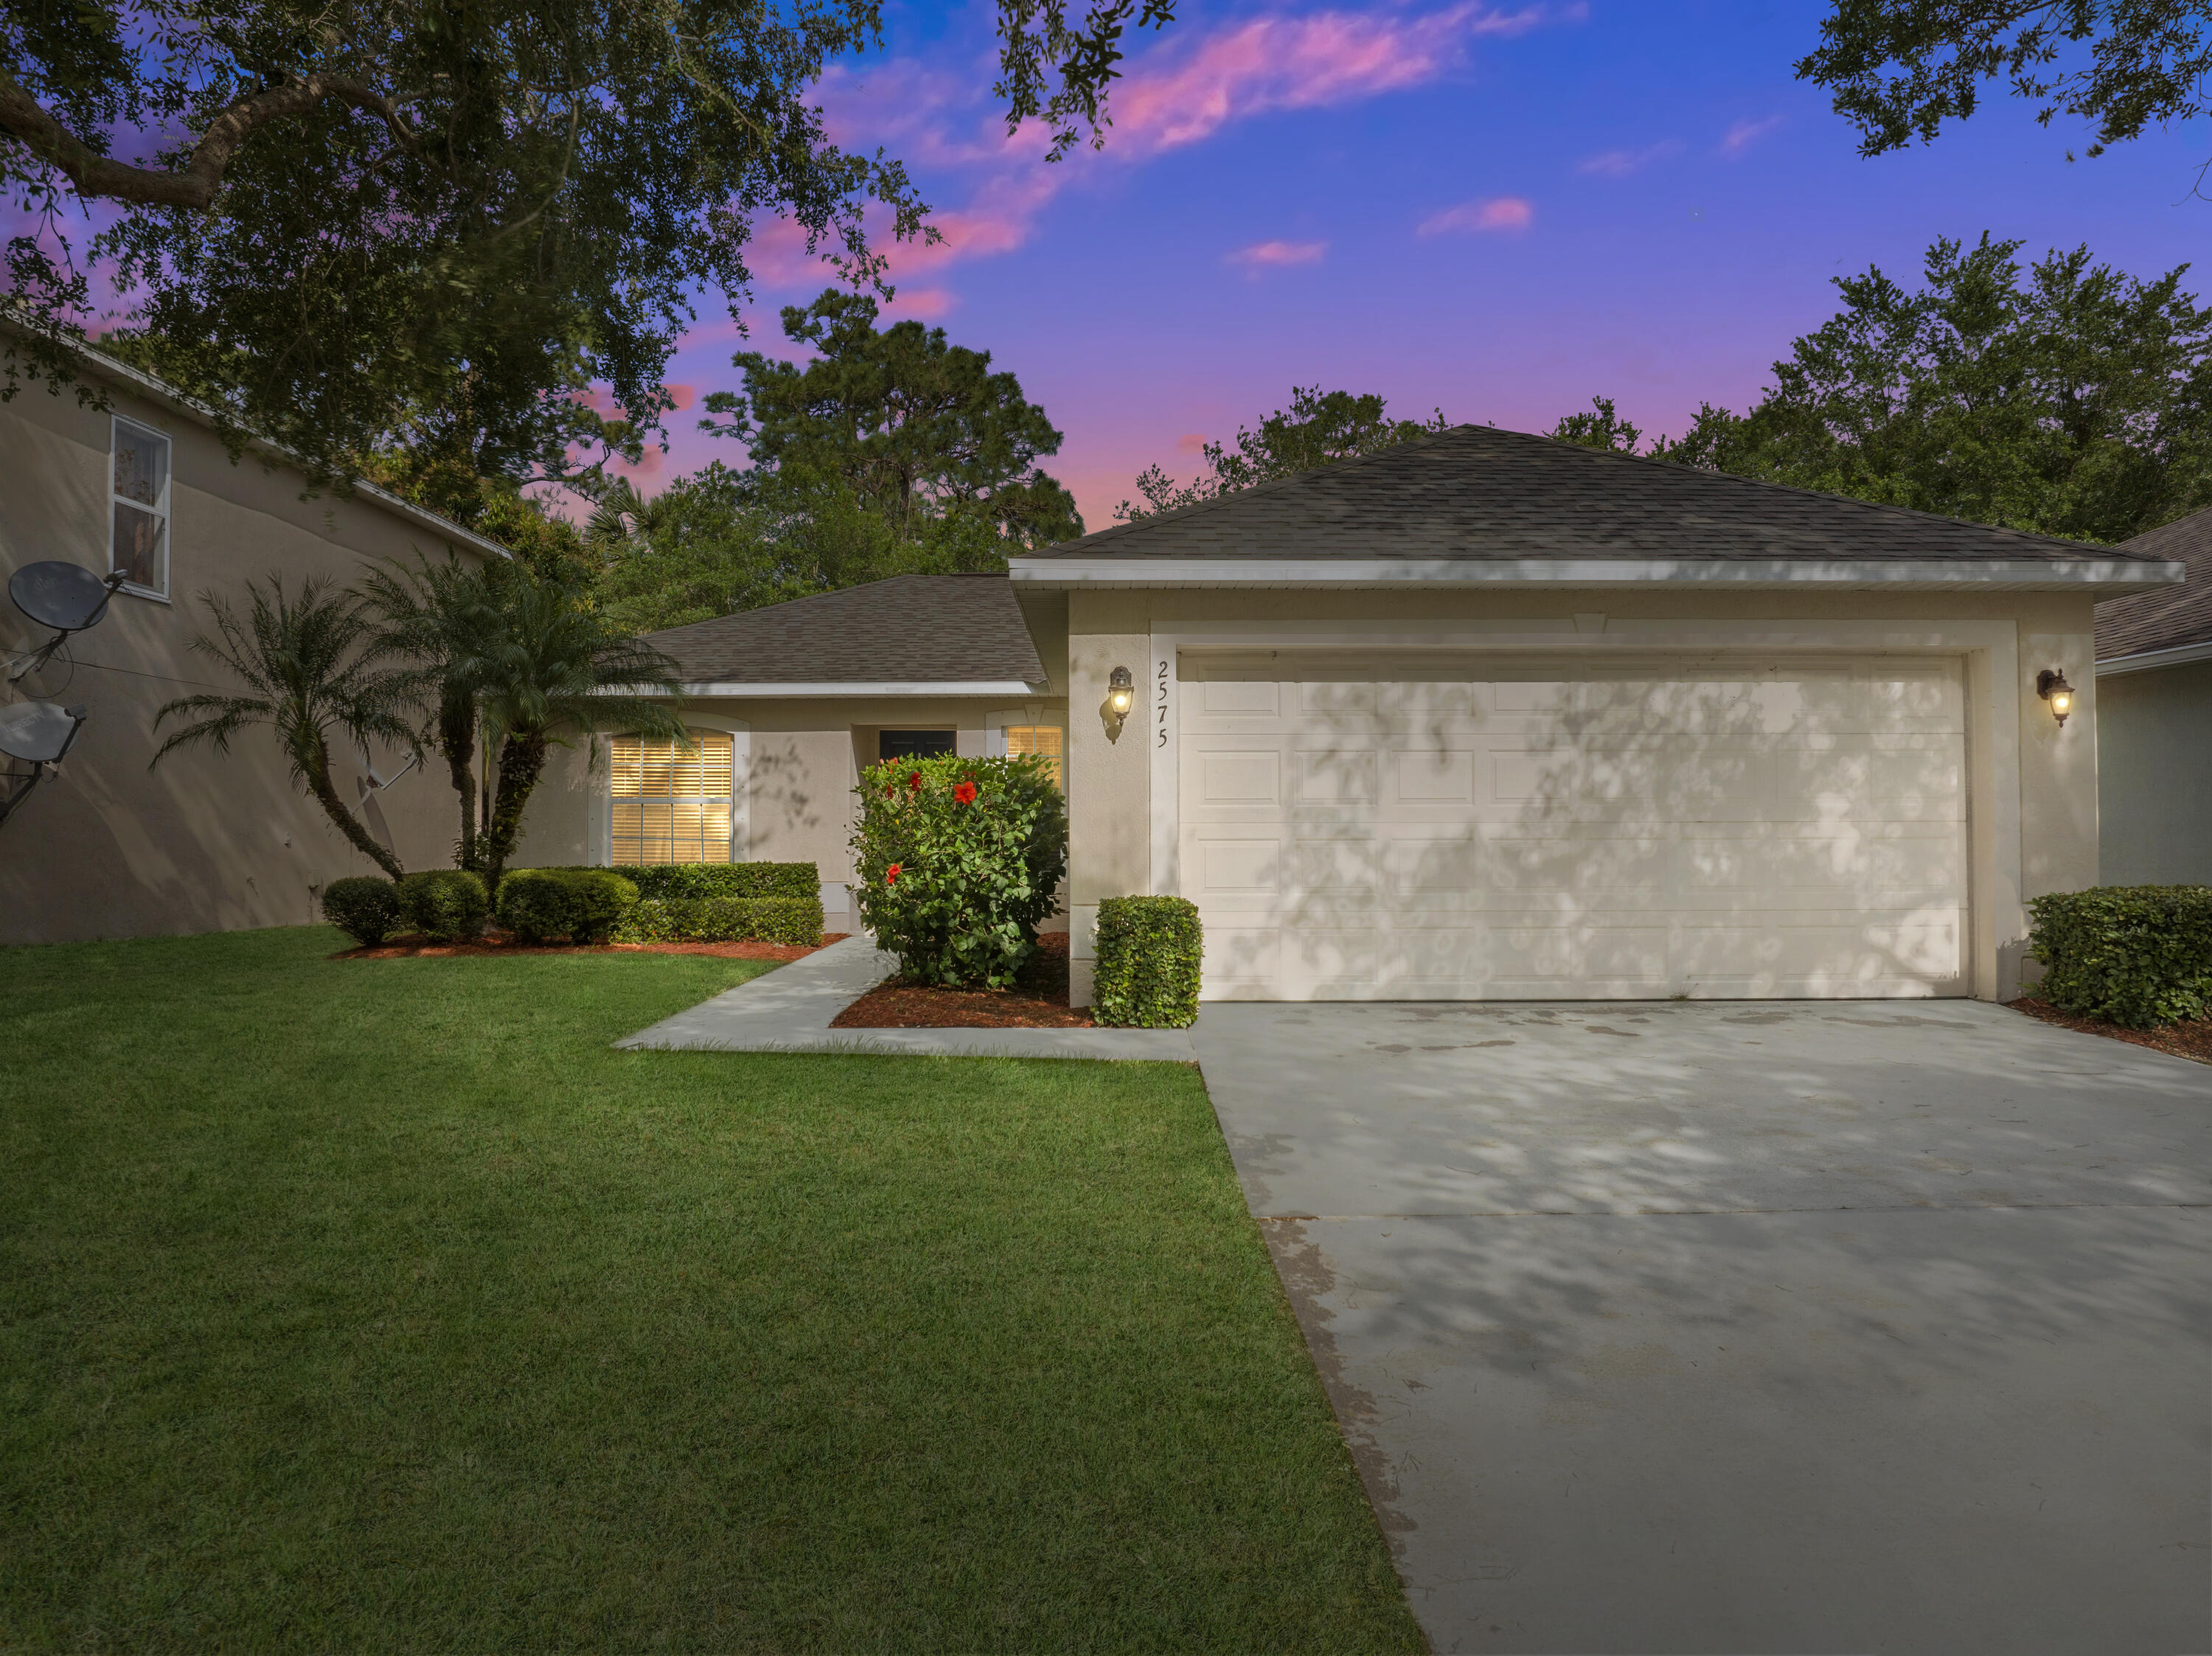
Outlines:
[[2188,568],[2135,557],[1011,557],[1035,586],[2177,586]]

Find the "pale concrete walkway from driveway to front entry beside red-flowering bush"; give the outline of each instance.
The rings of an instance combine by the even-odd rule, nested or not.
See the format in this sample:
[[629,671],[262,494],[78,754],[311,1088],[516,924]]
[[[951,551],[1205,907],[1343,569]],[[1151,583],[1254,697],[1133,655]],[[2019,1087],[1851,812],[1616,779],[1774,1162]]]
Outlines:
[[898,962],[860,935],[723,991],[615,1041],[675,1052],[887,1052],[909,1057],[1150,1059],[1194,1063],[1186,1030],[834,1030]]

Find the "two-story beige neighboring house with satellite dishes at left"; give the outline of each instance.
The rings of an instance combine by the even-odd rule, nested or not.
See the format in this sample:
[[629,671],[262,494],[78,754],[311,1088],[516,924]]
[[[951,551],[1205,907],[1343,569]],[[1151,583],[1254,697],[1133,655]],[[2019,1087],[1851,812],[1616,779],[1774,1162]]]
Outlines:
[[[347,586],[378,559],[504,553],[378,489],[301,500],[305,478],[279,451],[232,464],[208,418],[157,380],[97,352],[82,374],[108,409],[40,385],[0,402],[0,588],[44,559],[128,575],[104,619],[46,672],[18,685],[0,674],[0,703],[86,708],[60,772],[0,822],[0,944],[314,920],[330,880],[376,867],[292,783],[272,732],[248,730],[228,754],[170,754],[148,772],[161,703],[239,690],[188,648],[208,630],[201,595],[243,615],[250,579],[281,575],[296,593],[307,577]],[[20,659],[49,637],[0,590],[0,652]],[[336,754],[349,803],[369,758],[380,778],[403,763]],[[403,776],[374,798],[369,820],[409,867],[449,864],[458,807],[445,767]]]

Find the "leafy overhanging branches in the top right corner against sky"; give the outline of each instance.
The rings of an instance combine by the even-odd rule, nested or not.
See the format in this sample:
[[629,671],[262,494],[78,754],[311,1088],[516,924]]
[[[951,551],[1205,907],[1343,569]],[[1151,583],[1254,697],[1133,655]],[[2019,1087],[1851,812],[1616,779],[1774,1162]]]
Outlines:
[[1929,142],[1989,82],[2035,119],[2090,122],[2090,155],[2205,113],[2212,18],[2201,0],[1834,0],[1796,73],[1858,126],[1860,153]]

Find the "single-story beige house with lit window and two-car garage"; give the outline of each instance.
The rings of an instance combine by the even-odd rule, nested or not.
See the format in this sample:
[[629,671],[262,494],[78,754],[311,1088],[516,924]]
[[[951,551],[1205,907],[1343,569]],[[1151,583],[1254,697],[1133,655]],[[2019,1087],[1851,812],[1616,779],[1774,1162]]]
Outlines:
[[2097,601],[2181,577],[1458,427],[655,635],[728,743],[573,763],[533,847],[812,858],[849,926],[860,765],[1037,750],[1077,999],[1124,893],[1199,904],[1214,999],[2011,997],[2097,882]]

